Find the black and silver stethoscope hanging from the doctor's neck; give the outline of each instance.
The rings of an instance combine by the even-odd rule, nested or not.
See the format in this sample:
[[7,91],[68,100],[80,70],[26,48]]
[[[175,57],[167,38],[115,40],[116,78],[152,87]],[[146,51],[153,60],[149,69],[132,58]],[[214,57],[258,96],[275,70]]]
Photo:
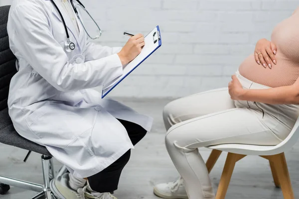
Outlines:
[[[53,3],[53,5],[54,5],[55,8],[57,9],[57,11],[59,12],[59,15],[60,15],[60,17],[61,17],[61,20],[62,20],[64,29],[65,29],[65,33],[66,33],[66,42],[64,43],[64,50],[65,50],[66,52],[72,52],[73,50],[75,50],[76,45],[75,45],[75,43],[71,42],[71,40],[70,40],[70,35],[69,35],[68,30],[67,30],[66,23],[65,23],[65,21],[64,21],[64,18],[63,18],[63,16],[62,16],[62,14],[61,14],[59,8],[57,7],[57,5],[56,5],[56,3],[54,2],[54,0],[51,0],[51,2]],[[77,0],[77,2],[79,3],[77,6],[81,6],[81,8],[82,8],[83,10],[86,11],[86,13],[90,16],[90,18],[94,21],[94,23],[97,25],[98,29],[100,30],[100,34],[97,35],[97,36],[95,36],[95,37],[91,37],[90,34],[88,34],[88,32],[87,32],[85,26],[83,25],[83,22],[81,21],[81,18],[80,18],[80,16],[79,16],[79,13],[78,13],[78,10],[77,10],[77,7],[74,5],[73,0],[70,0],[70,2],[71,2],[71,4],[72,4],[72,7],[73,7],[73,9],[74,9],[74,11],[75,11],[75,13],[76,13],[76,15],[77,15],[77,17],[78,17],[78,19],[79,19],[81,25],[82,25],[83,28],[84,28],[84,31],[85,31],[86,34],[88,35],[88,37],[91,38],[91,39],[98,39],[98,38],[102,35],[102,30],[101,30],[101,28],[99,27],[99,25],[97,24],[97,22],[94,20],[94,18],[93,18],[93,17],[89,14],[89,12],[86,10],[85,6],[80,2],[80,0]]]

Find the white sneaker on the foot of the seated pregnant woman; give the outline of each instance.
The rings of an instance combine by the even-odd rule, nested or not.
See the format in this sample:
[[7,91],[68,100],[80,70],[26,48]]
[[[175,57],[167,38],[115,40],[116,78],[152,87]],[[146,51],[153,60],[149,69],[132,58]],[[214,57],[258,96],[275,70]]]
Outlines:
[[153,193],[163,199],[188,199],[182,178],[172,183],[154,186]]

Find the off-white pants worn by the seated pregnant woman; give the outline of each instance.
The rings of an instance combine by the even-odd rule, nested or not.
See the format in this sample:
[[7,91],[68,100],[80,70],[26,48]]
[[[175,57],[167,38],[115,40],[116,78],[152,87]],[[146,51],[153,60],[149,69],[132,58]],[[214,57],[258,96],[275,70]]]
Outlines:
[[[244,89],[267,89],[242,77]],[[298,105],[231,100],[228,89],[174,100],[163,111],[167,151],[189,199],[214,199],[206,165],[197,148],[217,144],[277,145],[291,132]]]

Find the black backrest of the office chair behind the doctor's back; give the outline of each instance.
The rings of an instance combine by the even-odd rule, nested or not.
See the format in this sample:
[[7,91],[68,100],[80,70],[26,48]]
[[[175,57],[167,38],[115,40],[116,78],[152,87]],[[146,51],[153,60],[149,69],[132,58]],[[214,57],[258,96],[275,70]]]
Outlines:
[[0,111],[7,107],[10,80],[16,73],[16,58],[9,49],[6,28],[9,7],[9,5],[0,7]]

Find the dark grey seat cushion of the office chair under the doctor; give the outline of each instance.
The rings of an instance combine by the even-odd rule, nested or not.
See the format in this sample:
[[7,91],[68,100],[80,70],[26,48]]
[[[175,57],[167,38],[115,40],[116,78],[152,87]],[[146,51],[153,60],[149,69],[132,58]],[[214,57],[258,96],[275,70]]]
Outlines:
[[46,147],[21,137],[14,129],[8,115],[8,108],[0,111],[0,143],[52,156]]

